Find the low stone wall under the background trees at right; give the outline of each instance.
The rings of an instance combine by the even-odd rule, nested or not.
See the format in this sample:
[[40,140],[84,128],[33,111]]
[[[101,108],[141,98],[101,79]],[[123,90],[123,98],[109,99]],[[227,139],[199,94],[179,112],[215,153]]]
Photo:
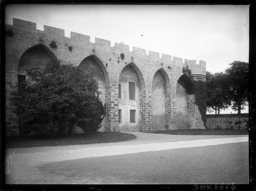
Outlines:
[[206,115],[207,129],[247,129],[248,113]]

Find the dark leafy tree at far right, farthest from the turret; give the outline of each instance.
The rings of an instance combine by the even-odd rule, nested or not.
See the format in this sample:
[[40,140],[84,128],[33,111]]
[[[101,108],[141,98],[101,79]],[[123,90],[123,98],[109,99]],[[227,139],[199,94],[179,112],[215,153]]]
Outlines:
[[225,74],[227,75],[229,97],[233,102],[231,108],[240,114],[248,102],[249,64],[234,61],[229,65],[231,67],[225,70]]

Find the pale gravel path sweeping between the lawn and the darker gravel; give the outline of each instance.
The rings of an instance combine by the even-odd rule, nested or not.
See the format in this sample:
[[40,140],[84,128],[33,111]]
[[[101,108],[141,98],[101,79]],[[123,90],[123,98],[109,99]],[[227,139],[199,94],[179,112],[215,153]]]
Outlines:
[[[135,134],[137,139],[115,143],[6,149],[6,183],[37,183],[43,172],[38,166],[46,163],[57,162],[59,164],[63,161],[76,161],[79,158],[120,157],[132,155],[131,153],[145,154],[161,150],[167,152],[179,148],[200,148],[206,145],[223,146],[227,143],[239,142],[241,144],[241,142],[248,141],[248,135],[168,135],[140,132],[132,134]],[[143,160],[145,161],[145,159]],[[71,164],[70,168],[74,165],[76,164]],[[48,172],[47,176],[51,177],[52,175]],[[47,176],[44,174],[44,177]],[[43,180],[40,179],[41,181],[45,183],[44,178]],[[122,182],[121,180],[119,181]]]

